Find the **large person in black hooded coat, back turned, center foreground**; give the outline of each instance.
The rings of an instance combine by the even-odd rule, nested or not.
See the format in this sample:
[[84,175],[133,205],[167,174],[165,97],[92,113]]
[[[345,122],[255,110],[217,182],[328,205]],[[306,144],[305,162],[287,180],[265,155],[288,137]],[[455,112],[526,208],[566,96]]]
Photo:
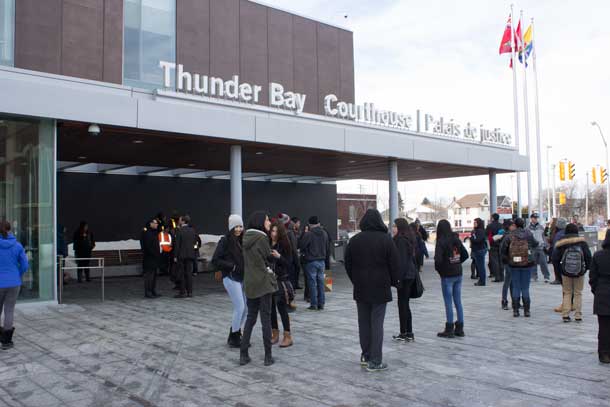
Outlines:
[[387,369],[382,361],[383,321],[392,286],[400,287],[399,256],[379,211],[367,210],[360,230],[345,249],[345,270],[358,308],[360,364],[374,372]]

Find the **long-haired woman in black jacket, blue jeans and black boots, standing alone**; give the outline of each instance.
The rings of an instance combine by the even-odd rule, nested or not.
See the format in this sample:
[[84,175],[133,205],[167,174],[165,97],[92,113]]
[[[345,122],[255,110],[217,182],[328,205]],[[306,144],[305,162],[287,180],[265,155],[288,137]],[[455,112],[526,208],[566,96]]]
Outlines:
[[[468,260],[468,251],[451,224],[445,219],[438,222],[436,229],[436,250],[434,268],[441,276],[443,301],[447,322],[445,330],[439,332],[441,338],[464,336],[464,309],[462,308],[462,263]],[[457,321],[453,322],[453,305],[457,312]]]

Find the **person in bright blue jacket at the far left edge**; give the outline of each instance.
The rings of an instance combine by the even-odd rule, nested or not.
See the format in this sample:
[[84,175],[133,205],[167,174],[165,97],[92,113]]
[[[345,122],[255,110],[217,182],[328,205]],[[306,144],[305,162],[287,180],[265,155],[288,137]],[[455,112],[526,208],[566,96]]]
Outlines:
[[28,270],[28,258],[21,243],[10,233],[11,224],[0,221],[0,317],[4,323],[0,328],[2,349],[13,347],[13,314],[21,288],[21,276]]

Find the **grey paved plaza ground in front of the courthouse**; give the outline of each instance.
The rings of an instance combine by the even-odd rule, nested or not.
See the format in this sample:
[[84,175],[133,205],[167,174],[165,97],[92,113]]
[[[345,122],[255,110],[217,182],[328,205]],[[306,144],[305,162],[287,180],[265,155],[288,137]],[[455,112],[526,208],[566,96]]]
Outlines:
[[[444,323],[440,281],[431,264],[415,300],[414,343],[395,343],[396,302],[385,323],[390,369],[358,363],[356,309],[344,271],[323,312],[292,314],[295,345],[274,348],[263,367],[260,324],[253,362],[238,366],[228,349],[231,306],[210,275],[196,277],[195,297],[141,298],[138,279],[68,286],[72,304],[20,307],[15,348],[0,352],[0,406],[609,406],[610,368],[597,359],[597,321],[586,291],[584,322],[564,324],[552,308],[561,288],[532,287],[532,318],[500,309],[500,284],[464,280],[466,337],[437,338]],[[468,277],[468,276],[467,276]],[[76,303],[74,303],[76,302]]]

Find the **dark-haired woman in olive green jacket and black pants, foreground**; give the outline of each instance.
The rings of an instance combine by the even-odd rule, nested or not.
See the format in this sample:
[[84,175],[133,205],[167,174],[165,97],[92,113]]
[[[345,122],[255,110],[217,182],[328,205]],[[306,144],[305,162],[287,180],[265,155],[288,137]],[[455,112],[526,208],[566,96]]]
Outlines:
[[263,325],[263,345],[265,347],[265,366],[271,366],[275,361],[271,354],[271,303],[273,293],[277,291],[275,273],[269,267],[271,246],[269,245],[269,229],[271,222],[265,212],[254,212],[248,220],[248,230],[244,234],[244,288],[247,298],[248,317],[244,326],[241,341],[239,364],[250,363],[248,348],[252,329],[256,324],[258,314]]

